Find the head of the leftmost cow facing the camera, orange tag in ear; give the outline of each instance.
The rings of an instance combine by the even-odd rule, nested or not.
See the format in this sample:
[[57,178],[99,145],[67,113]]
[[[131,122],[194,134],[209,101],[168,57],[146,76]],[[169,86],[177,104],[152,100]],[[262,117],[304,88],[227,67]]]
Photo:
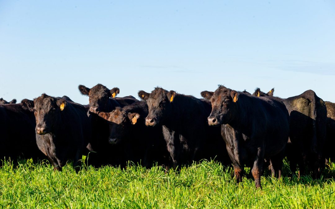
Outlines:
[[34,101],[24,99],[21,101],[23,108],[28,109],[35,114],[36,133],[47,134],[54,132],[57,128],[56,124],[61,114],[66,111],[67,102],[63,98],[54,98],[46,94],[42,94]]

